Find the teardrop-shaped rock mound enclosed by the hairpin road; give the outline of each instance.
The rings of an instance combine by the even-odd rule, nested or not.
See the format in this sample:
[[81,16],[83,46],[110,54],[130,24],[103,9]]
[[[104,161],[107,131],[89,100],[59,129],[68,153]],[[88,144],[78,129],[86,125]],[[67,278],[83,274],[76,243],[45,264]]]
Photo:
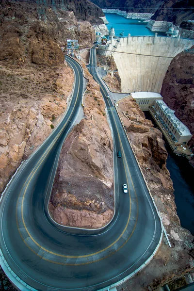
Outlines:
[[113,217],[113,141],[99,85],[84,72],[84,118],[65,140],[49,210],[62,225],[97,228]]

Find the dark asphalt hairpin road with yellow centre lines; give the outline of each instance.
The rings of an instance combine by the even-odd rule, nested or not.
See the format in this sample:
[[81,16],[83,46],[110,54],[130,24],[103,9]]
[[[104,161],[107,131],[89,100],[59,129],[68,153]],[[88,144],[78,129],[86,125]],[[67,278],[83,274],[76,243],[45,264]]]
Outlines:
[[[83,93],[81,66],[65,58],[75,74],[70,106],[60,125],[12,179],[0,205],[0,263],[22,291],[106,290],[145,265],[162,233],[119,117],[97,75],[95,49],[91,49],[90,72],[100,84],[113,130],[115,215],[110,225],[92,231],[59,226],[49,217],[59,154]],[[123,193],[123,184],[128,184],[128,194]]]

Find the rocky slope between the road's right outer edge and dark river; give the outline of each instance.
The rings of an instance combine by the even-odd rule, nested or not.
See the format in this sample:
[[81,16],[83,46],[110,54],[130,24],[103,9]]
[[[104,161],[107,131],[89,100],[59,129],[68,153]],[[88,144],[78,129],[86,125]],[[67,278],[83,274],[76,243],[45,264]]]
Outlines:
[[166,169],[167,152],[162,133],[145,118],[134,99],[123,99],[118,106],[119,115],[127,130],[137,159],[148,181],[169,234],[172,248],[165,238],[158,253],[141,273],[119,286],[119,291],[149,291],[193,272],[194,240],[191,233],[180,226],[174,200],[173,183]]

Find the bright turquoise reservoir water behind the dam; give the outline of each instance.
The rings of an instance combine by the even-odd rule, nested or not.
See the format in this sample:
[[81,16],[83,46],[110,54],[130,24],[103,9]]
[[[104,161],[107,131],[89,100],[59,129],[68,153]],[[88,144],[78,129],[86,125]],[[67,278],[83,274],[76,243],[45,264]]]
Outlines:
[[[128,36],[130,33],[131,36],[137,35],[155,35],[155,32],[151,32],[146,28],[147,22],[140,19],[127,19],[124,16],[120,16],[112,13],[105,13],[106,19],[109,21],[107,28],[113,26],[115,35],[118,36],[120,32],[124,30],[124,36]],[[166,35],[163,32],[158,32],[158,35]]]

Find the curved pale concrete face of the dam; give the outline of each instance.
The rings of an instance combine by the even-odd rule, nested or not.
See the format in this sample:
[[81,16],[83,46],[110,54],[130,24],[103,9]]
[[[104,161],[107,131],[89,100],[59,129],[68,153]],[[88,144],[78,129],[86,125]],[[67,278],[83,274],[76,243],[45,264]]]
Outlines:
[[[112,50],[115,43],[116,40],[113,39],[112,44],[108,44],[108,49]],[[192,39],[157,37],[157,34],[133,37],[129,35],[121,38],[113,52],[113,57],[121,78],[122,92],[160,93],[162,81],[172,59],[193,45]],[[134,55],[119,52],[134,53]],[[106,52],[106,55],[108,54],[110,51]]]

